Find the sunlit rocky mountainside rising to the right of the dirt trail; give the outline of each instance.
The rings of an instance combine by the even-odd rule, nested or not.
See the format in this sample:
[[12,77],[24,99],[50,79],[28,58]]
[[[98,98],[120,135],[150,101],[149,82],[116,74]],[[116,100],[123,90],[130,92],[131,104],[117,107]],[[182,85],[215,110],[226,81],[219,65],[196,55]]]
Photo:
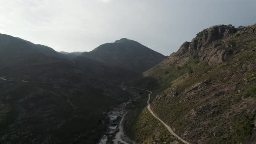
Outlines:
[[[256,141],[256,24],[204,29],[144,75],[131,85],[154,91],[151,108],[186,141]],[[134,138],[159,142],[139,134]]]

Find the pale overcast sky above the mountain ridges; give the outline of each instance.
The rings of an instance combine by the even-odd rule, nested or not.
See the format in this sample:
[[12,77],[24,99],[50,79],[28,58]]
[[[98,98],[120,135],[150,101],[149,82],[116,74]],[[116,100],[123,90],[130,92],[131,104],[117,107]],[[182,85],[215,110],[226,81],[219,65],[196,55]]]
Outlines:
[[0,0],[0,33],[91,51],[121,38],[164,55],[203,29],[256,23],[256,0]]

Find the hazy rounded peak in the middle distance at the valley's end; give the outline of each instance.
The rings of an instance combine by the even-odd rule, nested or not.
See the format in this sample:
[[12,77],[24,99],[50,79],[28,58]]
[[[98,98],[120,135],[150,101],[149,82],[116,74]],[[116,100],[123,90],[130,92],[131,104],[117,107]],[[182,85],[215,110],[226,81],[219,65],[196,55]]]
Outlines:
[[115,79],[115,76],[121,78],[141,74],[164,59],[164,55],[134,40],[123,38],[114,43],[102,44],[91,52],[84,52],[74,61],[95,77]]

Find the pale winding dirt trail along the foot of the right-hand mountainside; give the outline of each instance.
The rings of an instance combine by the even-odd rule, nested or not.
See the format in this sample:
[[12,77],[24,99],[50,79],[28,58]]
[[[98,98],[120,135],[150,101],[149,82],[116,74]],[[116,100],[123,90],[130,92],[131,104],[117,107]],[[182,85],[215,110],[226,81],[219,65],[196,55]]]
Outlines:
[[[135,88],[135,87],[124,87],[124,88]],[[175,134],[174,131],[171,129],[171,127],[169,127],[167,124],[165,124],[164,121],[162,121],[160,118],[158,118],[158,117],[154,114],[154,112],[151,110],[149,101],[150,101],[150,95],[152,94],[152,92],[149,91],[149,90],[146,90],[146,89],[142,89],[142,88],[136,88],[136,89],[140,89],[140,90],[143,90],[143,91],[150,92],[150,94],[148,94],[148,101],[147,101],[148,106],[147,106],[147,108],[148,108],[148,111],[151,113],[151,115],[153,115],[156,119],[158,119],[158,121],[160,121],[162,124],[164,124],[164,127],[167,128],[167,130],[168,130],[172,135],[174,135],[174,137],[177,137],[177,138],[178,138],[180,141],[182,141],[184,144],[190,144],[189,142],[185,141],[184,139],[182,139],[181,137],[179,137],[177,134]]]

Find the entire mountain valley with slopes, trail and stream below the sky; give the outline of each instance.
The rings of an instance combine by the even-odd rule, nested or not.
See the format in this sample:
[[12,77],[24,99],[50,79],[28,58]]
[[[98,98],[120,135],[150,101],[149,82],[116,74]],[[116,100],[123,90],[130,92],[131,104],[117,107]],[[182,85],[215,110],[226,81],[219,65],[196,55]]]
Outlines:
[[0,34],[0,143],[254,141],[256,24],[164,56],[131,39],[56,52]]

